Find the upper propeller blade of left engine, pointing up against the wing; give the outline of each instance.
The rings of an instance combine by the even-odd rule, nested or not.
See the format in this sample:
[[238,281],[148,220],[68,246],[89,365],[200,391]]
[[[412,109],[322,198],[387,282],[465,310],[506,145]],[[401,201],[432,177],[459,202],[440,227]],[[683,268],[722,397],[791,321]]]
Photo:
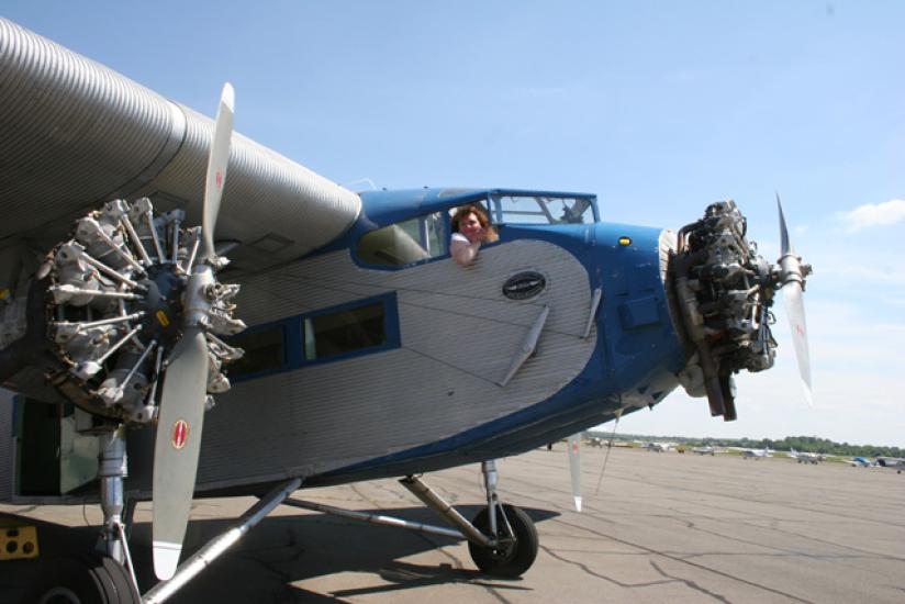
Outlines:
[[201,222],[201,234],[204,237],[203,257],[213,261],[214,226],[220,213],[220,200],[223,197],[223,186],[226,183],[226,166],[230,163],[230,143],[233,138],[233,108],[235,92],[230,82],[223,85],[220,96],[220,107],[216,110],[214,137],[211,141],[211,155],[208,158],[208,179],[204,183],[204,215]]

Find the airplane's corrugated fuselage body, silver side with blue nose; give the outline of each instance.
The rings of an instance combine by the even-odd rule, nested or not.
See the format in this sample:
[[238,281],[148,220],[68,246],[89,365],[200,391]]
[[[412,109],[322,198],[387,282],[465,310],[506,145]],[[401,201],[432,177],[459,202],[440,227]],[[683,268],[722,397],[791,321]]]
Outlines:
[[[513,455],[655,404],[678,383],[684,356],[659,231],[505,226],[473,266],[443,256],[393,270],[361,266],[356,237],[244,278],[242,315],[291,326],[319,309],[389,295],[396,344],[237,380],[206,415],[199,490],[286,476],[345,482]],[[543,275],[545,289],[506,298],[503,283],[524,271]],[[603,299],[585,336],[595,289]],[[545,307],[536,354],[503,385]]]

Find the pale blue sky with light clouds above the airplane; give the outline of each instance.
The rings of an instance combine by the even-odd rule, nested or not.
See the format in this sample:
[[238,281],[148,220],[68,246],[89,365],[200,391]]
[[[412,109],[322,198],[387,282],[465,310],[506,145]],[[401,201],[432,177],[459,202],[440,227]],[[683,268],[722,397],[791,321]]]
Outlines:
[[[731,198],[814,266],[814,409],[781,304],[737,422],[681,389],[621,433],[905,446],[905,3],[7,0],[2,15],[351,188],[592,192],[679,228]],[[610,429],[612,426],[604,426]]]

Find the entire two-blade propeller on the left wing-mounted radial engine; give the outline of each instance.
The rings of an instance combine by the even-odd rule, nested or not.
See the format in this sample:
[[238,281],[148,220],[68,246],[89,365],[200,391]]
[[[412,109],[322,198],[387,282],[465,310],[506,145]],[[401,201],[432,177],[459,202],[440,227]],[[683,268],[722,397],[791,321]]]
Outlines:
[[154,572],[170,579],[176,572],[191,510],[201,429],[208,391],[208,339],[203,331],[210,307],[205,291],[214,283],[216,254],[213,231],[230,158],[234,92],[224,85],[208,160],[202,235],[206,264],[192,269],[186,287],[182,338],[170,354],[157,420],[154,447]]

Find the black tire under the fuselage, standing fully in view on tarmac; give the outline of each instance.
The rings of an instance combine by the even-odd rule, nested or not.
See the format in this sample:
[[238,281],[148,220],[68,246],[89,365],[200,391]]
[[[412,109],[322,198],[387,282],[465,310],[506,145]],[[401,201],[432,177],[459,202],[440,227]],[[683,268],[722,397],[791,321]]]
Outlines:
[[[502,512],[499,507],[496,508],[496,530],[501,535],[506,534],[505,519],[503,518],[503,512],[505,512],[515,535],[515,541],[501,548],[483,547],[469,541],[468,551],[478,568],[485,573],[514,579],[521,577],[534,563],[535,558],[537,558],[539,540],[534,522],[527,514],[514,505],[503,505],[502,507]],[[490,535],[490,515],[487,507],[478,512],[471,523],[474,528],[484,535]]]

